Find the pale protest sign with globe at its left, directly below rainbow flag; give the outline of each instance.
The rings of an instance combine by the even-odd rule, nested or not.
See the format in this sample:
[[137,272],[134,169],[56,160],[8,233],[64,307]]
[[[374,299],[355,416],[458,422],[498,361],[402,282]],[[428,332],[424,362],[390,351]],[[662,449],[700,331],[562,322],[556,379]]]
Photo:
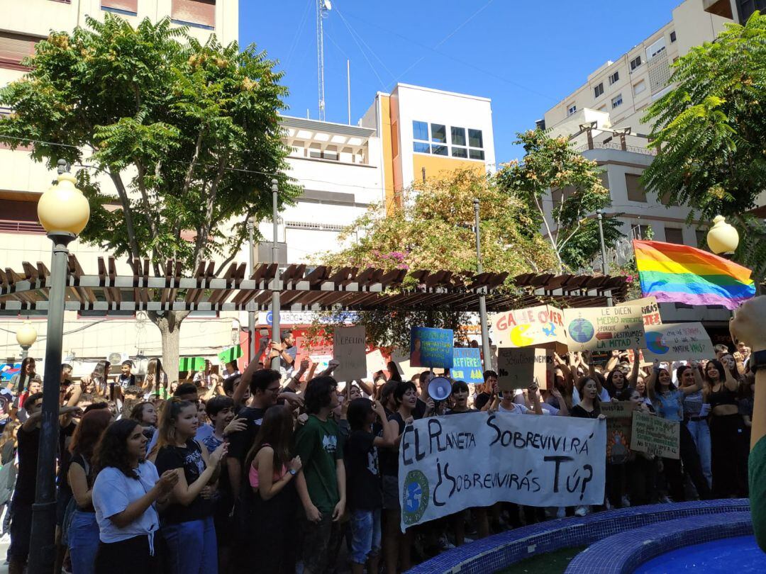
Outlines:
[[643,357],[650,363],[709,359],[715,357],[715,349],[702,323],[665,323],[647,329]]

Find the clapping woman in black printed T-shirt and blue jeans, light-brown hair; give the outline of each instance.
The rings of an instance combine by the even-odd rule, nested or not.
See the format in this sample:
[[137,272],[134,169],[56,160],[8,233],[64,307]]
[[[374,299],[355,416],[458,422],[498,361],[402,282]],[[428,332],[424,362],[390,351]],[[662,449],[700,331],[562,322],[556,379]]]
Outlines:
[[213,502],[201,493],[218,477],[218,464],[228,443],[208,455],[208,449],[195,441],[198,426],[196,403],[169,399],[162,407],[157,444],[149,457],[160,472],[180,470],[170,504],[162,513],[162,537],[172,574],[218,572]]

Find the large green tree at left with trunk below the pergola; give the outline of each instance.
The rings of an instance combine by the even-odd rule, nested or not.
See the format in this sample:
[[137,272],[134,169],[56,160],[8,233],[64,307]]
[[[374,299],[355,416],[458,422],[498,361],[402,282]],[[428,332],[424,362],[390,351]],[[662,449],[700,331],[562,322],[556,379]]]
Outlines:
[[[156,274],[165,259],[189,270],[224,256],[222,269],[247,218],[270,215],[271,178],[282,201],[299,193],[282,175],[281,73],[253,45],[201,45],[168,19],[134,29],[106,14],[87,24],[39,42],[31,71],[0,90],[13,109],[0,141],[34,146],[32,158],[49,167],[58,158],[88,167],[77,172],[91,207],[83,240],[131,265],[149,257]],[[186,315],[149,313],[169,373]]]

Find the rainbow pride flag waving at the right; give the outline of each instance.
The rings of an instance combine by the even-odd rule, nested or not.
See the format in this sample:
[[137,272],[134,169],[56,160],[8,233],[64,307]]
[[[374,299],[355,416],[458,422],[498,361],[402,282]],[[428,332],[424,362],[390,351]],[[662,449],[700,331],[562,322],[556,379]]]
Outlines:
[[750,269],[702,249],[640,240],[633,249],[644,297],[735,309],[755,295]]

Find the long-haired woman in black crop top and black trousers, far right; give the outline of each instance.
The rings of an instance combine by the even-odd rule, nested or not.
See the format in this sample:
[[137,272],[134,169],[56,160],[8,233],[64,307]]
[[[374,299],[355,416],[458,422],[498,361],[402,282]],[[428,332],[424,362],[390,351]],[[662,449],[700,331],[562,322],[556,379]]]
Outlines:
[[713,494],[716,498],[747,496],[747,478],[742,461],[744,455],[744,426],[739,414],[737,392],[739,383],[720,360],[705,365],[704,396],[710,403],[710,468]]

